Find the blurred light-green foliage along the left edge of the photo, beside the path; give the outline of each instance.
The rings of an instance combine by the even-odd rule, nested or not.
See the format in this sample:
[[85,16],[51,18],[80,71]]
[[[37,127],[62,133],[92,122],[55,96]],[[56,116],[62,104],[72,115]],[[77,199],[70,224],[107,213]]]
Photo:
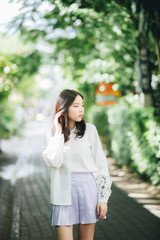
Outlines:
[[35,94],[37,89],[33,76],[41,64],[41,55],[37,50],[26,50],[26,47],[23,49],[21,45],[9,51],[12,40],[15,44],[18,43],[18,39],[11,38],[9,41],[2,36],[1,39],[3,48],[0,56],[0,137],[9,137],[21,132],[25,122],[23,108],[29,106],[33,96],[38,94],[38,91]]

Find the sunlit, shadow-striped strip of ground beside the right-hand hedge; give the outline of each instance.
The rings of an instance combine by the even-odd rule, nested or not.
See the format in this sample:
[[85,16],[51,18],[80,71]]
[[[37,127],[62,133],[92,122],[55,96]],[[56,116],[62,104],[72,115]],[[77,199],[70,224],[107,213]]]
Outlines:
[[108,158],[108,162],[113,183],[160,218],[160,187],[144,182],[136,173],[118,168],[114,159]]

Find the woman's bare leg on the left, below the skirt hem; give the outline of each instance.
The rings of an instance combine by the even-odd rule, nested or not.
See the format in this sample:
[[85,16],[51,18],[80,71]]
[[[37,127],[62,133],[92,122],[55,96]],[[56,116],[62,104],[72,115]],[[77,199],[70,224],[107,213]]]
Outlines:
[[55,226],[57,240],[73,240],[73,226]]

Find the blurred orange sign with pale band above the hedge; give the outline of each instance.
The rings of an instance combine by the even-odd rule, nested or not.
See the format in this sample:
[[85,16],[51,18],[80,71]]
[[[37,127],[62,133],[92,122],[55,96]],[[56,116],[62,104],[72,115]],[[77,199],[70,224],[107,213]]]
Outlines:
[[96,103],[98,105],[113,105],[117,97],[121,96],[119,91],[113,90],[114,83],[101,82],[96,89]]

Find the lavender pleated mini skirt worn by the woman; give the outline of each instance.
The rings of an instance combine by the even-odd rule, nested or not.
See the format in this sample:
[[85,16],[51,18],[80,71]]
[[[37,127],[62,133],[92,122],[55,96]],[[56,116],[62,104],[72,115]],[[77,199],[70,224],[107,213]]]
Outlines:
[[71,195],[71,205],[51,204],[52,226],[95,223],[99,220],[98,190],[92,173],[71,173]]

